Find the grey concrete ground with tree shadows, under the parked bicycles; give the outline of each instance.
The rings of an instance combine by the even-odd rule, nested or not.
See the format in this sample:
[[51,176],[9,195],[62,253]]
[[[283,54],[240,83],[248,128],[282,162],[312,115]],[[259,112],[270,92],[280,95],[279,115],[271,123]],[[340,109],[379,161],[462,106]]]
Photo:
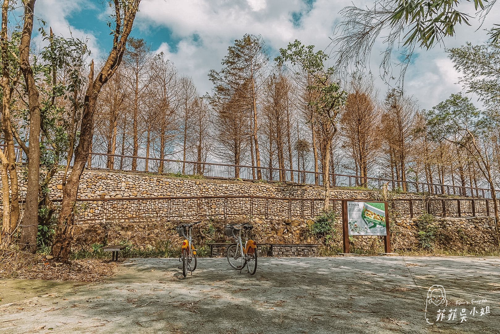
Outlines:
[[[179,264],[129,259],[103,283],[0,279],[0,333],[500,332],[499,258],[259,258],[254,276],[202,258],[186,278]],[[448,305],[430,325],[434,284]],[[473,306],[490,313],[469,315]],[[467,321],[447,321],[454,308]]]

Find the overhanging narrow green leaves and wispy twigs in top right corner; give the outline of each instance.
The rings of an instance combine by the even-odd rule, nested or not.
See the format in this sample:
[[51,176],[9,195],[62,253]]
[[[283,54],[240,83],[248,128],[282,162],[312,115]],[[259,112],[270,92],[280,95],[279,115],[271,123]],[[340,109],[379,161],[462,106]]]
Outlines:
[[[467,12],[465,4],[468,3],[473,3],[474,7],[468,7]],[[456,35],[457,26],[470,26],[470,19],[481,23],[495,3],[486,0],[381,0],[374,1],[371,7],[345,7],[340,11],[344,20],[338,24],[334,40],[338,50],[337,66],[346,71],[352,64],[366,66],[373,47],[383,43],[381,76],[395,79],[392,67],[397,64],[401,69],[399,79],[402,79],[416,46],[430,49],[443,44],[446,38]],[[500,26],[493,25],[489,36],[492,43],[500,42]],[[397,63],[391,60],[395,50],[400,55]]]

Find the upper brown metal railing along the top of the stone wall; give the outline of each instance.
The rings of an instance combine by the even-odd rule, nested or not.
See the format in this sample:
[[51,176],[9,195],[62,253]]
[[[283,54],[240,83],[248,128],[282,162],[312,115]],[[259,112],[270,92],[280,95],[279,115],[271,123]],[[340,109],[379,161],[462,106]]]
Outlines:
[[[0,144],[0,147],[3,146]],[[16,147],[18,163],[25,163],[26,157],[19,147]],[[65,162],[63,162],[65,164]],[[71,164],[70,164],[71,165]],[[160,159],[154,157],[139,157],[106,153],[89,153],[87,168],[121,170],[133,172],[171,173],[183,175],[200,175],[206,178],[256,180],[257,169],[261,180],[266,182],[289,182],[322,186],[323,173],[306,170],[255,167],[247,165],[231,165],[224,163],[183,161]],[[416,181],[401,181],[380,177],[361,177],[348,174],[330,174],[330,185],[333,187],[356,187],[362,189],[382,190],[435,195],[455,195],[461,197],[491,198],[491,190],[480,187],[462,187],[448,184],[436,184]],[[500,191],[496,191],[500,197]]]

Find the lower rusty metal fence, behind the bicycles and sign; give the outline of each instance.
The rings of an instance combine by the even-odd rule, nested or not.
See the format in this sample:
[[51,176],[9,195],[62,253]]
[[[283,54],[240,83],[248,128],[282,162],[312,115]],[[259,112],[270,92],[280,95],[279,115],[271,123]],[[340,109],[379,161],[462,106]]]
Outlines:
[[[58,202],[57,202],[58,203]],[[197,219],[308,219],[321,213],[324,199],[259,196],[193,196],[79,199],[77,223],[145,222]],[[341,216],[342,199],[330,199]],[[424,213],[438,217],[493,216],[491,199],[395,199],[389,208],[398,218]]]

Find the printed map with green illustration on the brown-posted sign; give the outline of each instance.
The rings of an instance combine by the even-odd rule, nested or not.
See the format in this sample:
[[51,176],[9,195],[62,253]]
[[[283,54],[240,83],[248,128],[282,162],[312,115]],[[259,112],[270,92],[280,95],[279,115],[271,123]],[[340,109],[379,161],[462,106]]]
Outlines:
[[347,202],[349,235],[386,235],[385,204]]

